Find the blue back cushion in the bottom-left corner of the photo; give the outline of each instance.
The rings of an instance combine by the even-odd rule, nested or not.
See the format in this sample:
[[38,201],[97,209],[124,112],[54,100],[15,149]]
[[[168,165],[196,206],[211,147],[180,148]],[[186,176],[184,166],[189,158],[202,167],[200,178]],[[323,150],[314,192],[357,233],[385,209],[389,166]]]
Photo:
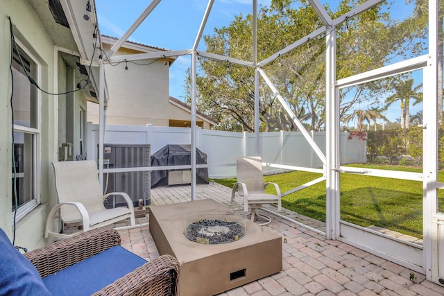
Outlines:
[[39,272],[0,229],[0,295],[51,295]]

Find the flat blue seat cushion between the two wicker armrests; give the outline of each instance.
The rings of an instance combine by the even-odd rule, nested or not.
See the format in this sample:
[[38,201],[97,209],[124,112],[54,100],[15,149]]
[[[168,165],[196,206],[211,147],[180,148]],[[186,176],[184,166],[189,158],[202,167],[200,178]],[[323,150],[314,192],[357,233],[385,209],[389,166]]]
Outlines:
[[145,259],[117,245],[69,266],[43,282],[53,295],[92,295],[146,263]]

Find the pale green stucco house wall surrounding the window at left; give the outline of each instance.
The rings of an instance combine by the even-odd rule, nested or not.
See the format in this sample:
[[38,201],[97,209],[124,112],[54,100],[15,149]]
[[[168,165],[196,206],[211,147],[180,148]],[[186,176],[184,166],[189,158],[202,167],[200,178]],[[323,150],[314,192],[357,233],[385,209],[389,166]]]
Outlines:
[[[8,16],[14,25],[17,40],[37,58],[41,67],[40,87],[54,90],[54,77],[57,69],[54,67],[54,44],[46,34],[44,27],[35,16],[28,1],[0,1],[0,227],[12,240],[12,195],[11,195],[11,143],[12,119],[10,109],[10,25]],[[16,245],[33,250],[41,247],[49,240],[44,240],[44,225],[49,208],[55,200],[51,162],[56,159],[57,116],[56,98],[39,92],[41,102],[40,117],[40,193],[42,204],[31,213],[19,220],[16,225]]]

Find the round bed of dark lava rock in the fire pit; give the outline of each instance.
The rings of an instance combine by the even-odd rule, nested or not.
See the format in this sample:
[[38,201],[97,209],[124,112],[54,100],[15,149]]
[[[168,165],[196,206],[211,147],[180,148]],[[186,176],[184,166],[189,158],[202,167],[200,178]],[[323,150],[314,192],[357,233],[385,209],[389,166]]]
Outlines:
[[230,243],[245,235],[245,228],[237,222],[202,219],[190,223],[185,230],[185,236],[197,243]]

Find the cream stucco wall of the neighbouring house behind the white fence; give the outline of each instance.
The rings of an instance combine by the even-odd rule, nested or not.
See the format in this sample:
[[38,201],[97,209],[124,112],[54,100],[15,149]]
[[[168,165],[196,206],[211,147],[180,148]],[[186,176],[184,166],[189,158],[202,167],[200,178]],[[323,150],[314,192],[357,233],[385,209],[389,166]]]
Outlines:
[[[108,52],[117,39],[102,36],[103,50]],[[114,55],[150,53],[155,47],[125,42]],[[162,49],[164,51],[164,49]],[[106,107],[108,125],[170,126],[173,121],[191,121],[191,111],[171,102],[169,97],[169,67],[174,60],[137,60],[106,64],[105,74],[110,93]],[[99,123],[99,106],[88,103],[87,120]],[[196,119],[200,126],[209,129],[214,121],[205,117]]]

